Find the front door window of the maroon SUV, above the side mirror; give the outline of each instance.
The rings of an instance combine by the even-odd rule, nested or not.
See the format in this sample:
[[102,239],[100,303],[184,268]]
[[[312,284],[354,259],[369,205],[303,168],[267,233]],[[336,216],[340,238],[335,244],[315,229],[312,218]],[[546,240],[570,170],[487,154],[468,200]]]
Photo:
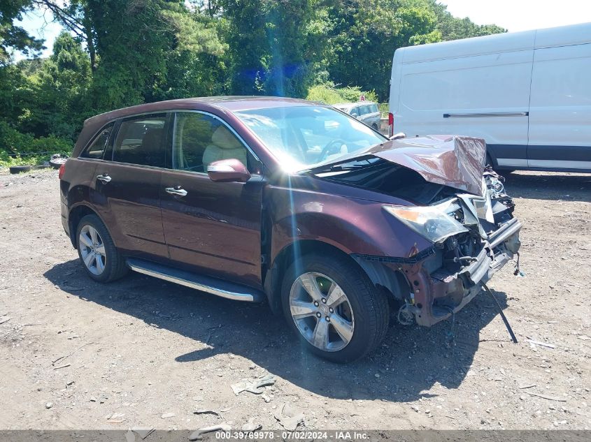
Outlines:
[[197,112],[176,114],[172,158],[178,170],[206,172],[213,161],[238,159],[251,173],[260,173],[248,149],[222,121]]

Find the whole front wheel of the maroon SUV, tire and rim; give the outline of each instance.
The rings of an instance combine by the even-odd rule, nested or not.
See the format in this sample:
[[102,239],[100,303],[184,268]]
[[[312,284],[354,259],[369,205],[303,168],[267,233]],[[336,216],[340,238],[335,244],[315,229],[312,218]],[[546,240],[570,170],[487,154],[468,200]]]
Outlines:
[[308,350],[334,362],[361,358],[383,340],[385,295],[347,258],[308,255],[287,270],[283,311]]

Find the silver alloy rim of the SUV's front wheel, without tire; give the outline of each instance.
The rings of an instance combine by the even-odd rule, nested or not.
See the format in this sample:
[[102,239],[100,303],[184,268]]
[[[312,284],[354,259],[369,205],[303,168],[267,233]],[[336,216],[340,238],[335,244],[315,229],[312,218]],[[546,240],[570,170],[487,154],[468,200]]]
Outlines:
[[301,274],[290,290],[290,312],[301,335],[322,351],[339,351],[353,338],[355,318],[339,284],[318,272]]

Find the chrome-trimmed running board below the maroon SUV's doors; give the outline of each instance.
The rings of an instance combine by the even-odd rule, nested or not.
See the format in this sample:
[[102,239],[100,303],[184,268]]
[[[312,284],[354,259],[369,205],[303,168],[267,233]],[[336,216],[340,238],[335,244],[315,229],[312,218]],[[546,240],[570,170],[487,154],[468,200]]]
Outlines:
[[266,299],[264,293],[255,288],[241,286],[218,278],[206,277],[201,274],[185,272],[184,270],[152,263],[151,261],[127,258],[127,266],[134,272],[201,290],[202,292],[211,293],[211,295],[226,297],[229,300],[262,302]]

